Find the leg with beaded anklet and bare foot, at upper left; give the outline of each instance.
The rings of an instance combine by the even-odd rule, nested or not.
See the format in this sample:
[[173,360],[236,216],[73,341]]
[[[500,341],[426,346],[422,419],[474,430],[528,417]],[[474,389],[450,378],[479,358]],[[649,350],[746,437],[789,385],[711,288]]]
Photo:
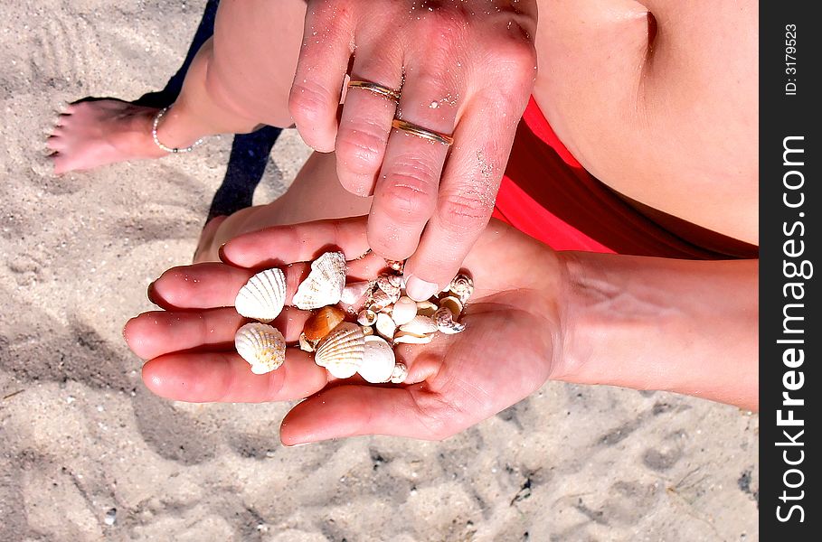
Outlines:
[[[213,40],[197,52],[159,140],[185,147],[205,135],[289,126],[304,16],[302,0],[223,0]],[[151,137],[155,115],[155,108],[119,100],[72,104],[48,143],[55,173],[165,155]]]

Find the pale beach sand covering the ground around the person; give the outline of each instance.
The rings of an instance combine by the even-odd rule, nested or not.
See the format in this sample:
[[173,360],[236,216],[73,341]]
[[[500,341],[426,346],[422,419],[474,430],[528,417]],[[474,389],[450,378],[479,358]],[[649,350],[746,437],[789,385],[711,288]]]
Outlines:
[[[731,406],[549,383],[444,442],[288,449],[288,404],[149,393],[122,326],[190,261],[231,137],[61,178],[43,143],[61,100],[162,88],[203,5],[3,5],[0,540],[758,539],[759,420]],[[306,153],[282,137],[258,201]]]

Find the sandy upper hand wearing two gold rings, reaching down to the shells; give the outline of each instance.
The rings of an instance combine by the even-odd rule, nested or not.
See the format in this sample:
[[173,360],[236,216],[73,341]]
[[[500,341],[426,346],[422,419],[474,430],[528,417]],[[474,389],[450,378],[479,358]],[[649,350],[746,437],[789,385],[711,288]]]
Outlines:
[[[291,116],[308,145],[336,151],[345,189],[373,194],[369,244],[409,258],[418,300],[457,273],[491,216],[534,84],[536,15],[535,0],[308,0]],[[349,65],[352,80],[400,89],[402,120],[453,147],[392,129],[397,104],[367,89],[348,89],[337,124]]]

